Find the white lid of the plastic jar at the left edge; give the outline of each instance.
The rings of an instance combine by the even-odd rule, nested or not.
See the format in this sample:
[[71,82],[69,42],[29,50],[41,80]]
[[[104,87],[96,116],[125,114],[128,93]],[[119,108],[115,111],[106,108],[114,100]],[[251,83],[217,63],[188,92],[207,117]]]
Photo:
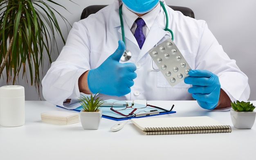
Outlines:
[[25,96],[25,89],[21,85],[4,85],[0,87],[0,97],[15,98]]

